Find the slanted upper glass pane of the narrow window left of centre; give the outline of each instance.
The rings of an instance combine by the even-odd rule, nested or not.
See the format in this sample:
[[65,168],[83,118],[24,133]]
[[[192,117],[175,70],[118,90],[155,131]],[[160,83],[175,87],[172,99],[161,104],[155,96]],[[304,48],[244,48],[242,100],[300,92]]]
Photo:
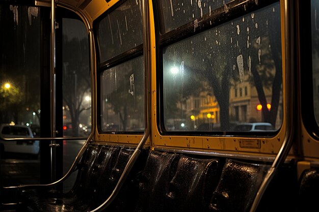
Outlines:
[[98,23],[100,62],[143,42],[141,0],[128,0]]

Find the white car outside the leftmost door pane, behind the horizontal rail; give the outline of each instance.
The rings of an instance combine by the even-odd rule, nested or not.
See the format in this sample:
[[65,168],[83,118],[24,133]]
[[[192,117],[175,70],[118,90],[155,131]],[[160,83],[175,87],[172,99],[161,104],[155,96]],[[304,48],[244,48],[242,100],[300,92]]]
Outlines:
[[23,153],[37,156],[40,150],[38,140],[3,140],[1,138],[33,138],[30,127],[24,125],[0,125],[0,149],[6,153]]

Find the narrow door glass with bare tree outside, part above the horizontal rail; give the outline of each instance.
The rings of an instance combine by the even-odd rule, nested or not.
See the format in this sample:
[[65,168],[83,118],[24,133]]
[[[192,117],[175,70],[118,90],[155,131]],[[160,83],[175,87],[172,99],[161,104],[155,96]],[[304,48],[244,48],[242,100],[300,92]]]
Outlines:
[[63,19],[63,136],[91,132],[89,39],[85,24]]

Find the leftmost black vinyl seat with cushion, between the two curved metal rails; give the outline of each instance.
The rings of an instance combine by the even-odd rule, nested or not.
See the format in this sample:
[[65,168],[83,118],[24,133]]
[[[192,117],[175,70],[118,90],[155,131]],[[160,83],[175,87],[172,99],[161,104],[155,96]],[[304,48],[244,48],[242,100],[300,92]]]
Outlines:
[[133,152],[132,148],[89,145],[70,191],[22,190],[17,211],[83,212],[94,209],[111,194]]

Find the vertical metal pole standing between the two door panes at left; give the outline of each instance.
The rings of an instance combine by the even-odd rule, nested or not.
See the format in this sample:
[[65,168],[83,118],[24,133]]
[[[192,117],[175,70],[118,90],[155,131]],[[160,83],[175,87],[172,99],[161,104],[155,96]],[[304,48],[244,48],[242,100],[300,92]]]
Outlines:
[[[55,31],[56,31],[56,0],[51,0],[51,38],[50,38],[50,127],[51,138],[56,137],[56,73],[55,73]],[[51,181],[56,180],[56,141],[51,140]]]

